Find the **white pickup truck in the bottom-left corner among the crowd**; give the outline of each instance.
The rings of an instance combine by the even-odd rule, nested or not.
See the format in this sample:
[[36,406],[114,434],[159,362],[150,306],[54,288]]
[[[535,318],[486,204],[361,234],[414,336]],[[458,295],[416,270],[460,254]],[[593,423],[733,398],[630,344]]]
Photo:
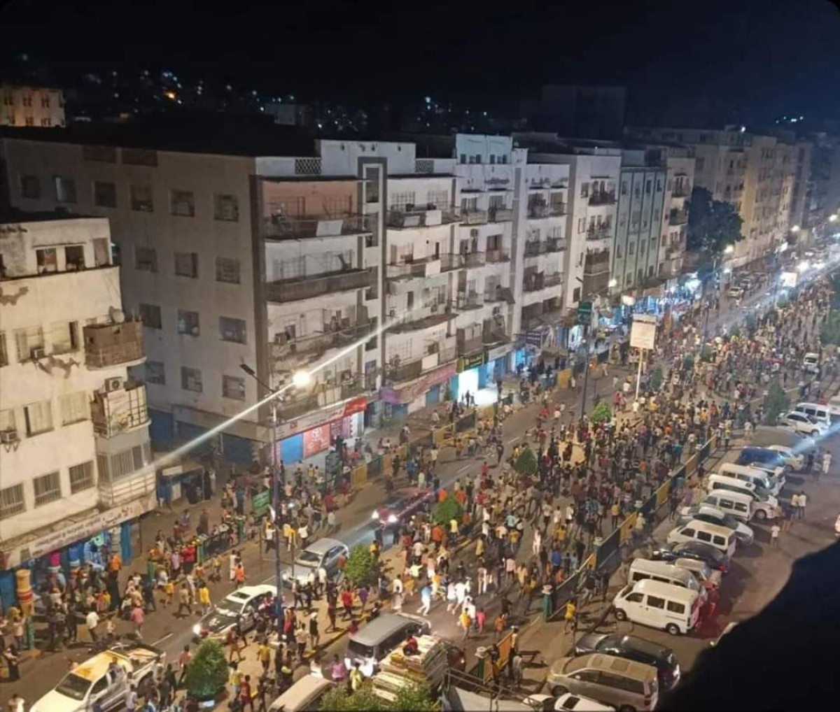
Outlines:
[[74,667],[29,712],[90,712],[94,703],[106,710],[125,709],[129,687],[138,692],[152,683],[166,653],[139,641],[118,642]]

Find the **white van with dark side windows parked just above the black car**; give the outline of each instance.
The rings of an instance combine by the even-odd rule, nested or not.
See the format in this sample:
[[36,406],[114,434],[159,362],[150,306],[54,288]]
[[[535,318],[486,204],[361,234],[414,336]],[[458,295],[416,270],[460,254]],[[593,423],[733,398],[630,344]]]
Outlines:
[[692,631],[700,620],[697,592],[661,581],[627,584],[612,599],[612,606],[617,620],[660,628],[672,636]]

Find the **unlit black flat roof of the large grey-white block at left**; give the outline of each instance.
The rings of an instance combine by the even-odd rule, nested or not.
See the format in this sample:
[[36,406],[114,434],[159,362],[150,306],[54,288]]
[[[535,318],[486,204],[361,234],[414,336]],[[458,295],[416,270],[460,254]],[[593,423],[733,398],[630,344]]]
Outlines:
[[239,156],[315,156],[312,134],[277,126],[271,117],[176,113],[126,123],[74,123],[66,128],[0,128],[0,137],[60,144],[118,146]]

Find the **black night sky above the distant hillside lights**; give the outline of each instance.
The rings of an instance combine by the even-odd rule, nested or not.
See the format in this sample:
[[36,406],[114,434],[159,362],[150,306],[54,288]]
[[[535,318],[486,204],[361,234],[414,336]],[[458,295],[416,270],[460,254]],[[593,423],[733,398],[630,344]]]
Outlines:
[[827,0],[58,4],[4,6],[0,51],[60,72],[172,69],[305,98],[509,108],[554,81],[628,86],[645,119],[686,96],[719,120],[840,118],[840,13]]

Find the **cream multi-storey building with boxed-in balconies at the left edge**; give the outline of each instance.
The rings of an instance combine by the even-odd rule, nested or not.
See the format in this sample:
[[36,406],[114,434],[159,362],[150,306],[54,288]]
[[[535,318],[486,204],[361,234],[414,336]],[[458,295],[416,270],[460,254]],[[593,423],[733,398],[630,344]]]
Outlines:
[[129,375],[143,325],[123,312],[108,220],[3,216],[0,295],[0,572],[130,558],[131,521],[157,498]]

